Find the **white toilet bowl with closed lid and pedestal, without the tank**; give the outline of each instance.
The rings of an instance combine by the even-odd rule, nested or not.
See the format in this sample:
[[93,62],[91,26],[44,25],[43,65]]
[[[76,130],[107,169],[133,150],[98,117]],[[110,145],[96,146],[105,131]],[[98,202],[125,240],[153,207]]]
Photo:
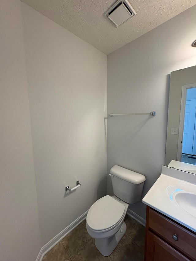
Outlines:
[[86,229],[95,238],[96,248],[102,255],[110,255],[126,233],[124,222],[129,204],[116,196],[104,196],[90,208]]

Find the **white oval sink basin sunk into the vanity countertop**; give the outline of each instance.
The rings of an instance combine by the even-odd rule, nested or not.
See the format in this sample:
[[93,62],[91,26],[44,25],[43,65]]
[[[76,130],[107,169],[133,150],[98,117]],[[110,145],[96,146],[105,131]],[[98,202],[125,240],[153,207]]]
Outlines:
[[196,194],[191,192],[177,192],[173,200],[185,211],[196,217]]

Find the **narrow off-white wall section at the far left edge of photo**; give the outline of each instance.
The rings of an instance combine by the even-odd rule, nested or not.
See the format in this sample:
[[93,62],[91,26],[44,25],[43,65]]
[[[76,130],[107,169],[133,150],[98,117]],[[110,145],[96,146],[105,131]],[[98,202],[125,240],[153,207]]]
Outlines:
[[34,261],[41,242],[21,1],[0,8],[0,260]]

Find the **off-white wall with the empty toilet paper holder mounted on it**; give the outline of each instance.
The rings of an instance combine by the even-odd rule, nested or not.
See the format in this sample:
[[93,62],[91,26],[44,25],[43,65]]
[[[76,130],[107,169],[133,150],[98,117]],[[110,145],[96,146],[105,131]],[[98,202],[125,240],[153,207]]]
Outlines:
[[22,15],[43,245],[107,193],[107,57],[24,3]]

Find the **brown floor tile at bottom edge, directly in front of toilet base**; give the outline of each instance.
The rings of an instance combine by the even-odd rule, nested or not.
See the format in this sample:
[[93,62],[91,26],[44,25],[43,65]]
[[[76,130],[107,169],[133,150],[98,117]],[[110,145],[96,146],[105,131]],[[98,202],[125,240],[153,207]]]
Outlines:
[[111,261],[110,256],[103,256],[96,248],[94,239],[89,242],[77,253],[73,261]]

